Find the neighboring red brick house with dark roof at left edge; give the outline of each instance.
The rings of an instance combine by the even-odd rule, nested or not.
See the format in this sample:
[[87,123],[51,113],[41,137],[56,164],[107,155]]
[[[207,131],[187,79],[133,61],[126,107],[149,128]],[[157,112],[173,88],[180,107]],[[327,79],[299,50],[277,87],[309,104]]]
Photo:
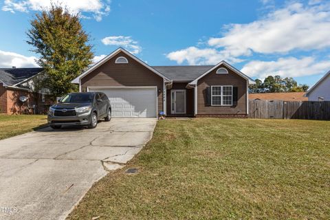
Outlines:
[[50,104],[49,96],[32,91],[36,77],[42,72],[41,68],[0,68],[0,113],[46,111]]

